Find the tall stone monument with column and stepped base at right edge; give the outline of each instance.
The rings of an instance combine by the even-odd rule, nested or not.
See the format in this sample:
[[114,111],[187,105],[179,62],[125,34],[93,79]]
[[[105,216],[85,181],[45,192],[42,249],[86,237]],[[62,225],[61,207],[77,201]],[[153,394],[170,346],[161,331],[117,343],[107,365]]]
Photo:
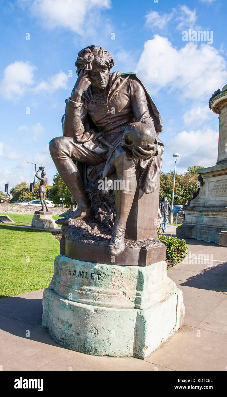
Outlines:
[[220,115],[218,161],[214,167],[197,170],[202,177],[199,195],[184,208],[185,220],[176,235],[227,247],[227,85],[214,93],[209,104]]

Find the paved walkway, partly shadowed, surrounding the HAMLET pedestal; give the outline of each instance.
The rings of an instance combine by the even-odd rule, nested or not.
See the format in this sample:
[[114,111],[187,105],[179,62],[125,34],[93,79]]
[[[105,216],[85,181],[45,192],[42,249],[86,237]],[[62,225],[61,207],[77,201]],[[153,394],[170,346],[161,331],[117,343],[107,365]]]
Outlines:
[[145,361],[96,357],[61,347],[41,328],[43,290],[38,290],[0,300],[2,370],[225,372],[227,248],[190,239],[187,245],[188,258],[168,270],[183,291],[185,326]]

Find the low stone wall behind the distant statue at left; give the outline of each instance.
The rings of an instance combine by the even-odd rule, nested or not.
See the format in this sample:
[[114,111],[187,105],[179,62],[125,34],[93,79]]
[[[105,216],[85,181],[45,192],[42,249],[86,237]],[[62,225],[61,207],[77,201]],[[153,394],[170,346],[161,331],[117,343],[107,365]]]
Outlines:
[[[34,211],[41,209],[41,206],[37,205],[21,205],[13,203],[0,203],[0,214],[34,214]],[[49,211],[53,212],[53,215],[66,216],[71,209],[70,208],[58,208],[48,207]]]

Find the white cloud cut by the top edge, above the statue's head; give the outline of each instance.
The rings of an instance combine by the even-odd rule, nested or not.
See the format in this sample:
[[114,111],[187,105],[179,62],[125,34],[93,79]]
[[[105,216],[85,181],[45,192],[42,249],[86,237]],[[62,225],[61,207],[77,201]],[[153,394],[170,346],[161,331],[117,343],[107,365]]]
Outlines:
[[110,0],[22,0],[20,4],[28,5],[32,15],[48,29],[62,27],[80,36],[97,27],[98,12],[111,6]]

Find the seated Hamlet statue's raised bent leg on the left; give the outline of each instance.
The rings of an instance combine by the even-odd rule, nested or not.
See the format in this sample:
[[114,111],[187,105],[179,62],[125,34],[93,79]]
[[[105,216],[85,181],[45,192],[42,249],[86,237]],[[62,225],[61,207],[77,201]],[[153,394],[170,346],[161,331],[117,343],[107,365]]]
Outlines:
[[78,208],[63,219],[57,220],[57,224],[68,224],[74,219],[89,218],[93,215],[89,198],[84,189],[78,168],[72,159],[89,165],[100,164],[104,161],[102,156],[75,143],[70,137],[57,137],[49,144],[50,154],[62,180],[75,198]]

